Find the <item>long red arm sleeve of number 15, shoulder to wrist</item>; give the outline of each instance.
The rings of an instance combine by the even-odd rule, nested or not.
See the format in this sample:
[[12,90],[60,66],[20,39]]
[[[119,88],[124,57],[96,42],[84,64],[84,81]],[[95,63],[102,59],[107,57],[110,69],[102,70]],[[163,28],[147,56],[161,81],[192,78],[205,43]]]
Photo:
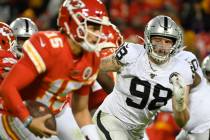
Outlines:
[[29,112],[23,104],[19,90],[29,85],[38,75],[34,65],[27,55],[24,55],[8,73],[0,87],[6,108],[10,113],[24,121]]

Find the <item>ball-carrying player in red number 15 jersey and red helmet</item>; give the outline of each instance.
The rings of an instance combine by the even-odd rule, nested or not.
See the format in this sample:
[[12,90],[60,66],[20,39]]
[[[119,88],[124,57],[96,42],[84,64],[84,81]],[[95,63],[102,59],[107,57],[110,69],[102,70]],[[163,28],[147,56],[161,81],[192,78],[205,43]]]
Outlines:
[[40,101],[59,117],[65,115],[59,109],[66,95],[72,93],[72,112],[79,127],[89,139],[99,139],[88,110],[88,93],[100,63],[95,51],[100,50],[101,25],[109,24],[101,1],[65,0],[58,16],[61,31],[34,34],[23,45],[24,56],[4,79],[0,96],[8,112],[33,133],[57,134],[44,125],[49,115],[32,118],[22,101]]

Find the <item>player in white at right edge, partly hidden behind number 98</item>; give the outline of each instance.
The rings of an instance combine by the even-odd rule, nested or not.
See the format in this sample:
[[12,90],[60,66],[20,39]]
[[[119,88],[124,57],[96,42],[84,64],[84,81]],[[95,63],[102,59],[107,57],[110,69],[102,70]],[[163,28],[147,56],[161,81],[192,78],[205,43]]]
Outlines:
[[191,117],[176,139],[182,140],[187,138],[190,140],[209,140],[210,109],[208,106],[210,106],[210,86],[208,84],[209,82],[207,82],[209,80],[209,56],[207,56],[202,62],[204,75],[194,54],[182,51],[178,53],[176,57],[190,62],[196,72],[196,75],[200,76],[200,80],[196,80],[195,78],[194,87],[190,91],[189,112]]

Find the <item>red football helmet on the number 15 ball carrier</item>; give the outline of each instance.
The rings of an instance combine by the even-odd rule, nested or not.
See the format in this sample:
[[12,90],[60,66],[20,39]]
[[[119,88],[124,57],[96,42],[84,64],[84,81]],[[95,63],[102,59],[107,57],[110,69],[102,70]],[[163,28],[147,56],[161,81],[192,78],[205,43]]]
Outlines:
[[91,33],[87,23],[98,25],[109,25],[106,8],[100,0],[65,0],[60,8],[57,24],[64,31],[87,51],[100,50],[97,43],[102,36],[97,36],[95,44],[87,40],[87,34]]

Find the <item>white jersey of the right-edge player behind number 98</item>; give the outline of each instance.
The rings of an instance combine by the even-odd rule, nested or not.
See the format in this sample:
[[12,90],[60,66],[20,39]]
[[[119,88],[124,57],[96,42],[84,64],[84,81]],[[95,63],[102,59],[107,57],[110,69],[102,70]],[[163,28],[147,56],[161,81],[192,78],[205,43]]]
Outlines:
[[199,62],[193,53],[182,51],[176,57],[191,63],[193,69],[201,77],[200,84],[192,88],[190,92],[190,120],[185,126],[185,130],[191,133],[203,133],[210,129],[210,85],[207,84]]

